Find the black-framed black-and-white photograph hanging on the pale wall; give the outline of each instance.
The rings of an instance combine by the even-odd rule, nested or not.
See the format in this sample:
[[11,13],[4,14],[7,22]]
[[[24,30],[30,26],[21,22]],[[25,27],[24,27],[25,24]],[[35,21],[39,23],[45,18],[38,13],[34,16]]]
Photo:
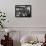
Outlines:
[[16,5],[15,17],[31,17],[31,5]]

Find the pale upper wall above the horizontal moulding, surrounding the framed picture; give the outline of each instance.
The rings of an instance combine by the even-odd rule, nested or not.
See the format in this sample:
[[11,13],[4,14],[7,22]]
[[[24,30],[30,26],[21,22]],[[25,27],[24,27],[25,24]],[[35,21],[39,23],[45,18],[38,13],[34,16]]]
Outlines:
[[[46,0],[0,0],[0,10],[6,12],[6,27],[46,27]],[[28,3],[30,2],[30,3]],[[16,4],[31,4],[31,18],[16,18]]]

